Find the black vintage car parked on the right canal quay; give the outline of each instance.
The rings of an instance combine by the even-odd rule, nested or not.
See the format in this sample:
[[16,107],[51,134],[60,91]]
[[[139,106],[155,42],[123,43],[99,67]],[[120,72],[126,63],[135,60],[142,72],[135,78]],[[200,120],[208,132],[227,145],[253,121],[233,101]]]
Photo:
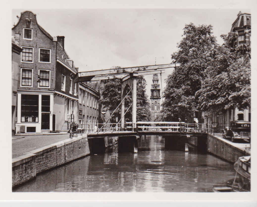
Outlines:
[[237,140],[245,140],[250,142],[251,140],[251,122],[250,121],[231,121],[230,127],[226,127],[222,130],[223,138],[230,138],[232,142]]

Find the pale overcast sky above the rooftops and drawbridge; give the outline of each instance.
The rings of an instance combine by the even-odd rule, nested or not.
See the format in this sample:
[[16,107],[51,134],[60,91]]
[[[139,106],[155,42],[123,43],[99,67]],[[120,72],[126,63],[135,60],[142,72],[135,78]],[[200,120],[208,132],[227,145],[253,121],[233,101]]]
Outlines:
[[[13,10],[12,24],[26,9]],[[177,51],[183,28],[212,25],[222,44],[221,34],[230,32],[240,9],[69,9],[30,10],[52,36],[65,36],[65,50],[79,71],[168,64]],[[250,10],[242,9],[243,13]],[[162,75],[164,79],[172,69]],[[145,76],[150,97],[152,75]]]

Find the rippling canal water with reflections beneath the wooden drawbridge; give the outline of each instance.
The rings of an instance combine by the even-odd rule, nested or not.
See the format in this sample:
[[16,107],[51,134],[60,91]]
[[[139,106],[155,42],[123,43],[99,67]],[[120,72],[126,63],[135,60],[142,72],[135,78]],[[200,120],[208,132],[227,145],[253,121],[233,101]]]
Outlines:
[[90,155],[36,176],[13,192],[212,192],[233,179],[233,164],[210,154],[164,150],[164,138],[140,138],[138,153]]

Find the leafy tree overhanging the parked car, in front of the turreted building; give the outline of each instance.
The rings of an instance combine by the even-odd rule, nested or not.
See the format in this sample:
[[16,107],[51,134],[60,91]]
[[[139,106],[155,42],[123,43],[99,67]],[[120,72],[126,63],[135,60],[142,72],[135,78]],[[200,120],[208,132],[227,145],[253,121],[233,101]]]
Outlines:
[[251,106],[251,47],[240,44],[231,48],[235,33],[221,35],[222,46],[215,48],[215,58],[206,69],[206,78],[197,91],[202,110],[222,112],[234,107]]

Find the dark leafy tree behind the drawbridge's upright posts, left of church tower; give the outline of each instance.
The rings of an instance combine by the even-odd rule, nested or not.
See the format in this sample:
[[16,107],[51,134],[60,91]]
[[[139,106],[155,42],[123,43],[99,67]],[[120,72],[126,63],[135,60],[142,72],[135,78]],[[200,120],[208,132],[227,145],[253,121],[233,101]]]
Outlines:
[[[115,67],[120,68],[120,67]],[[104,80],[104,87],[101,89],[100,103],[104,105],[107,110],[111,113],[121,102],[121,81],[119,79]],[[137,121],[149,121],[150,120],[150,104],[148,97],[145,93],[146,81],[143,76],[138,76],[137,81],[137,92],[136,92],[136,120]],[[129,92],[130,88],[127,89],[125,94]],[[132,103],[132,92],[125,98],[125,111]],[[115,122],[115,117],[121,118],[121,106],[114,112],[111,122]],[[125,121],[132,120],[132,106],[125,114]]]

